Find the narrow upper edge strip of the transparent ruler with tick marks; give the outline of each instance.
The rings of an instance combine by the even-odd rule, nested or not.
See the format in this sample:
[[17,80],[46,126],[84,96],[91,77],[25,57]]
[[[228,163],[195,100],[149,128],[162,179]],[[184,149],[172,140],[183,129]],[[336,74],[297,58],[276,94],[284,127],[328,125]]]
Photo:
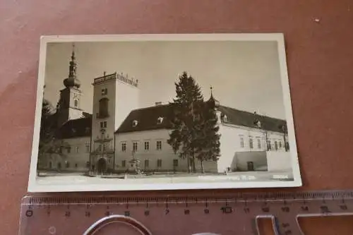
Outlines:
[[[190,193],[189,193],[190,194]],[[90,193],[86,195],[80,195],[80,193],[75,194],[50,194],[50,193],[32,193],[28,195],[24,195],[21,200],[22,205],[73,205],[73,204],[116,204],[116,201],[111,201],[110,203],[100,203],[104,200],[109,199],[119,199],[121,203],[133,203],[133,201],[141,199],[144,201],[156,203],[165,203],[168,202],[169,199],[174,199],[169,201],[169,203],[177,203],[180,202],[203,202],[203,200],[198,200],[203,198],[204,200],[216,200],[217,202],[222,202],[227,200],[237,200],[241,201],[294,201],[294,200],[328,200],[328,199],[346,199],[353,198],[353,190],[325,190],[325,191],[279,191],[279,192],[220,192],[220,193],[208,193],[208,192],[195,192],[192,196],[188,196],[182,192],[176,193],[164,193],[160,192],[154,195],[141,195],[137,193],[124,193],[124,195],[104,195],[102,193]],[[91,199],[92,203],[88,202]],[[100,200],[103,199],[103,200]],[[179,199],[179,200],[175,200]],[[44,200],[44,202],[43,202]],[[46,200],[46,201],[45,201]],[[82,203],[78,203],[81,200]],[[209,201],[210,203],[212,200]],[[119,202],[120,203],[120,202]]]

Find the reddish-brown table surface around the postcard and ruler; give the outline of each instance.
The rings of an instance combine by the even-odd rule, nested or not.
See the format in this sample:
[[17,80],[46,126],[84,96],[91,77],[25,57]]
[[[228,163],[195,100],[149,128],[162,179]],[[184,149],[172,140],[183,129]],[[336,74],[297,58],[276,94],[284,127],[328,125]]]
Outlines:
[[[17,234],[27,191],[41,35],[285,33],[303,191],[353,188],[352,23],[351,0],[1,0],[0,234]],[[303,223],[342,235],[352,221]]]

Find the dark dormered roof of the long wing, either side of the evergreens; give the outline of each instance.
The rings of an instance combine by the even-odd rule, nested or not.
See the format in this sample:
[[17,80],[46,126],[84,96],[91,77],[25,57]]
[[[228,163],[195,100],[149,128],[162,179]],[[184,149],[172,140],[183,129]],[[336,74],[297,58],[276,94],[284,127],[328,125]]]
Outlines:
[[[251,112],[245,112],[238,109],[233,109],[225,106],[218,108],[222,112],[222,116],[227,116],[225,123],[258,128],[256,121],[261,122],[261,128],[267,131],[282,132],[280,126],[286,125],[286,121],[275,119],[269,116],[259,116]],[[148,131],[163,128],[171,128],[170,120],[172,116],[172,104],[164,104],[155,107],[133,110],[116,133],[127,133],[132,131]],[[162,123],[157,123],[157,119],[163,117]],[[133,126],[133,121],[137,121],[137,125]]]

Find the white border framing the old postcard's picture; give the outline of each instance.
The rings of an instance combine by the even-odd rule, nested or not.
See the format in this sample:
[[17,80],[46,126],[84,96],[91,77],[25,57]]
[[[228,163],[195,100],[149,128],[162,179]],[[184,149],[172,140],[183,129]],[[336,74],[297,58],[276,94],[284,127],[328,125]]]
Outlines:
[[[44,88],[47,44],[49,42],[142,42],[142,41],[276,41],[280,61],[280,75],[287,119],[289,145],[291,147],[293,181],[237,181],[225,183],[144,183],[144,184],[72,184],[47,185],[37,183],[37,159],[40,140],[40,120]],[[155,191],[215,188],[289,188],[302,186],[294,131],[292,102],[287,73],[285,38],[282,33],[213,33],[213,34],[143,34],[143,35],[57,35],[40,38],[40,61],[37,79],[37,101],[35,126],[32,140],[28,192],[73,192],[73,191]]]

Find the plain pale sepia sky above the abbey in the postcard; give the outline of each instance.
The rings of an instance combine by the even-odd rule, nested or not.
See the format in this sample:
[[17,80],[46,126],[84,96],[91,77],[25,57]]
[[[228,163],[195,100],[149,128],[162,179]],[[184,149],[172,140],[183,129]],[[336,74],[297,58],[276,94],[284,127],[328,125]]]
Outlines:
[[[54,107],[68,76],[71,43],[50,43],[44,96]],[[167,103],[183,71],[201,85],[205,100],[285,119],[277,42],[76,42],[81,106],[92,112],[92,80],[107,73],[128,73],[139,80],[140,107]]]

